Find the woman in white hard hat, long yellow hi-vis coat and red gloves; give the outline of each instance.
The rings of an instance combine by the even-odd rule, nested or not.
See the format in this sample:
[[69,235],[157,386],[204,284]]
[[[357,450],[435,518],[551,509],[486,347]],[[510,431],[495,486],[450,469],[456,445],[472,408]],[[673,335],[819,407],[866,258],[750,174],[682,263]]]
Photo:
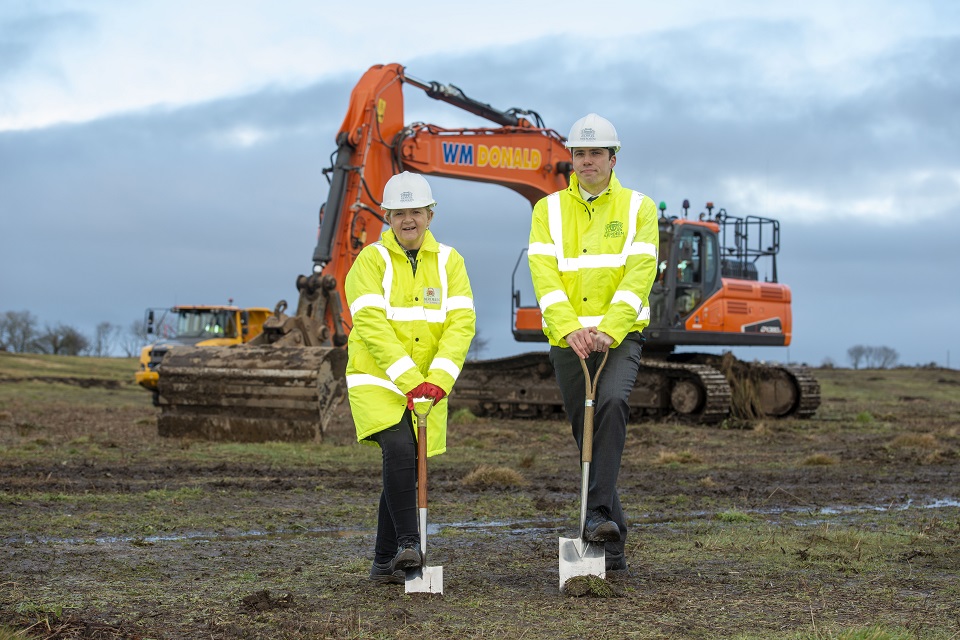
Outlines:
[[390,228],[347,274],[353,316],[347,389],[357,440],[383,454],[383,490],[370,579],[402,584],[422,564],[417,521],[414,402],[433,402],[427,456],[447,448],[447,400],[476,326],[463,257],[429,231],[426,179],[403,172],[383,190]]

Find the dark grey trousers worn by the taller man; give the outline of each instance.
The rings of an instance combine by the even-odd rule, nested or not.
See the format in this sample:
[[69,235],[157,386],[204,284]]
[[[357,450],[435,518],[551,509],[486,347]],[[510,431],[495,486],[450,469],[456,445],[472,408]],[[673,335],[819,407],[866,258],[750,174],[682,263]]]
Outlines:
[[[627,438],[630,419],[628,399],[640,369],[643,338],[639,332],[627,335],[615,349],[610,349],[607,364],[597,382],[593,419],[593,461],[590,463],[587,488],[587,511],[606,510],[611,520],[620,527],[620,540],[605,545],[607,555],[623,553],[627,541],[627,519],[620,506],[617,478],[623,445]],[[593,352],[587,358],[587,370],[596,374],[603,354]],[[583,415],[587,392],[583,380],[580,357],[573,349],[550,347],[550,362],[557,375],[557,384],[563,396],[563,406],[573,427],[577,450],[583,449]]]

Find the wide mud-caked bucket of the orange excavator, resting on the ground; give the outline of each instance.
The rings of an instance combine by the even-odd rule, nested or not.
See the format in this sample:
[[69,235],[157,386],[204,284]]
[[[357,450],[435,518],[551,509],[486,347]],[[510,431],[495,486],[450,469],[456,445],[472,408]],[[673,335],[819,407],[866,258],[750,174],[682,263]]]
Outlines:
[[160,364],[161,436],[320,439],[346,395],[347,352],[331,347],[174,347]]

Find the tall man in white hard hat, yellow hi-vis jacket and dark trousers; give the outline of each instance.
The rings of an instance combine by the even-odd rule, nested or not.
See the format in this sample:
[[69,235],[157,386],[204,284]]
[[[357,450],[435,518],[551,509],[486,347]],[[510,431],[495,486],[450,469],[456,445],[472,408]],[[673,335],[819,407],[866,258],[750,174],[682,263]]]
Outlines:
[[628,398],[650,323],[650,287],[657,274],[657,207],[620,184],[613,172],[620,140],[595,113],[574,123],[567,148],[570,186],[533,209],[528,257],[550,361],[573,426],[583,443],[586,391],[580,360],[597,382],[593,462],[587,494],[588,542],[604,543],[607,571],[626,571],[627,522],[617,476],[630,417]]

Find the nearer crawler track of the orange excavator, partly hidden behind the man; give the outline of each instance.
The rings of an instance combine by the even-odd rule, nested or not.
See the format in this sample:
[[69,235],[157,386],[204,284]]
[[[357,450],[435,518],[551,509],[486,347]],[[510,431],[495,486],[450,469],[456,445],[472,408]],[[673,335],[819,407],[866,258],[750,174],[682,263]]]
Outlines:
[[[564,415],[546,352],[467,362],[450,403],[454,410],[468,408],[475,415],[493,418]],[[629,403],[633,420],[679,418],[713,424],[730,411],[730,386],[709,366],[644,360]]]

